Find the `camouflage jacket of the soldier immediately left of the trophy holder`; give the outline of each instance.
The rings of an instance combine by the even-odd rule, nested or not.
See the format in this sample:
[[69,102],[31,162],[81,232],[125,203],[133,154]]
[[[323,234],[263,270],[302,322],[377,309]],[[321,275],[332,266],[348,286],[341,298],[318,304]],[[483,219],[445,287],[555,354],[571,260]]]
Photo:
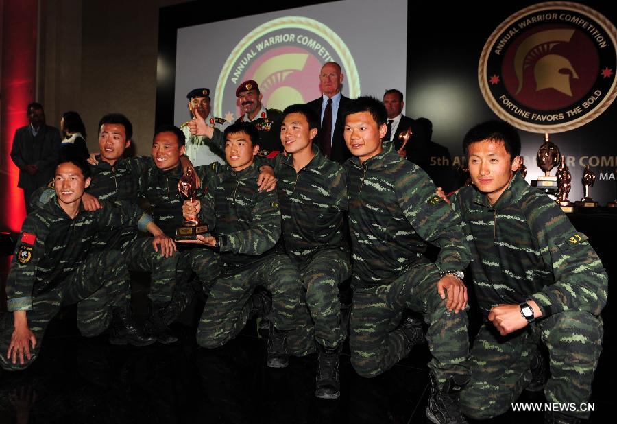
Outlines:
[[[204,184],[210,176],[216,173],[219,163],[214,162],[207,166],[195,167],[197,176]],[[167,235],[176,237],[176,228],[182,226],[182,203],[184,199],[178,192],[178,182],[182,177],[182,166],[162,171],[152,165],[139,179],[139,192],[152,207],[152,218],[156,225]],[[197,191],[197,198],[201,197],[201,190]]]

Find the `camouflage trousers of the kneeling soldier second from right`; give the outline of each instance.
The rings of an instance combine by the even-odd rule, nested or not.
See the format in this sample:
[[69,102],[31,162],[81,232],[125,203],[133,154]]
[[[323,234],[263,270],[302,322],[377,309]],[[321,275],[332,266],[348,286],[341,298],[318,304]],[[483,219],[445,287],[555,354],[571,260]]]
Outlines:
[[389,285],[354,290],[350,320],[351,362],[362,377],[379,375],[409,353],[398,325],[405,308],[419,312],[428,324],[426,341],[433,359],[428,367],[440,384],[448,375],[467,376],[468,318],[446,309],[437,294],[439,270],[433,263],[415,266]]

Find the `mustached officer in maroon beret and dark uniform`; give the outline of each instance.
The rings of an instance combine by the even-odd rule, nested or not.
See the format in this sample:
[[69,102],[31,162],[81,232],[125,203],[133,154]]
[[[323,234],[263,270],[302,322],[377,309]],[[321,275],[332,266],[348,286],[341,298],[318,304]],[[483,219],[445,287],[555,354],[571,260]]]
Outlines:
[[[280,110],[267,109],[261,104],[262,95],[257,83],[253,80],[243,82],[236,89],[236,97],[244,110],[239,122],[250,122],[259,131],[259,148],[261,152],[280,152]],[[262,153],[262,154],[263,154]]]

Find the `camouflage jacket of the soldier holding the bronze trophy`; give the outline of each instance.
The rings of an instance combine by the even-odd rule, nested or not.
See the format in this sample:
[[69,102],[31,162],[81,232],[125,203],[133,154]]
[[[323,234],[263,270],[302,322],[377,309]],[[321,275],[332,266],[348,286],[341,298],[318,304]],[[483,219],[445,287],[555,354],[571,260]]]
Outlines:
[[240,172],[226,167],[204,187],[199,217],[219,237],[224,268],[256,263],[276,250],[278,198],[276,191],[257,191],[259,172],[256,163]]

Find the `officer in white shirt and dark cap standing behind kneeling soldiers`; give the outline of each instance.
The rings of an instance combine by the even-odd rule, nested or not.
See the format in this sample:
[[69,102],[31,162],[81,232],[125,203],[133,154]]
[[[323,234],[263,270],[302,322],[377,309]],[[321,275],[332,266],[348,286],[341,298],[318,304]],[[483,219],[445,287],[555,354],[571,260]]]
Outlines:
[[[210,115],[210,89],[193,89],[186,95],[189,99],[189,111],[193,114],[193,110],[197,108],[199,115],[204,117],[208,125],[216,128],[221,134],[230,123],[223,118],[213,117]],[[200,135],[191,135],[189,121],[186,121],[180,126],[180,130],[184,133],[186,139],[186,150],[184,154],[191,159],[195,166],[210,165],[210,163],[218,162],[221,165],[225,164],[225,153],[223,150],[208,145],[206,137]]]

